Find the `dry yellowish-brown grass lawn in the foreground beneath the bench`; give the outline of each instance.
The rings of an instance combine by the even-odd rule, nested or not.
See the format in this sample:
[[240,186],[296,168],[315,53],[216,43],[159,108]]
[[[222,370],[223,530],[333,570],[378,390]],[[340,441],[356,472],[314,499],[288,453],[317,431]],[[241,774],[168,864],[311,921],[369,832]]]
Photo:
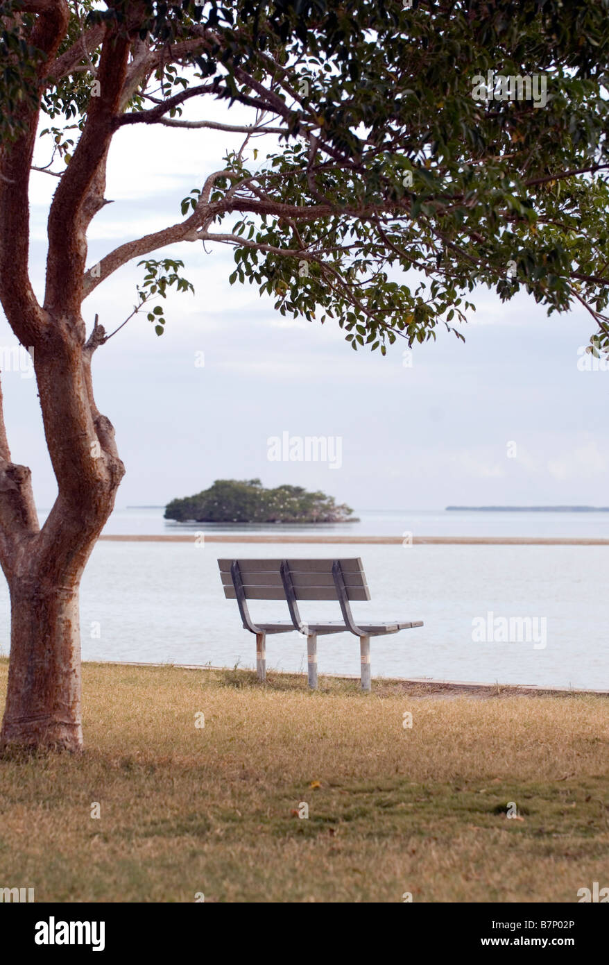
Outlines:
[[84,756],[0,761],[0,887],[37,901],[573,902],[609,885],[606,699],[83,676]]

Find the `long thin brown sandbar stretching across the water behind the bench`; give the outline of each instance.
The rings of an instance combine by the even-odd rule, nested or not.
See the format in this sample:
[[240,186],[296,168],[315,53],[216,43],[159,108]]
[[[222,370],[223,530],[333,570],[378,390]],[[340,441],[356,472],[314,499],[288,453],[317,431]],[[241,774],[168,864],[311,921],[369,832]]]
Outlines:
[[[346,537],[346,536],[312,536],[299,534],[285,535],[278,534],[271,536],[267,534],[242,534],[235,533],[205,533],[198,531],[191,534],[112,534],[99,537],[107,542],[186,542],[195,543],[200,536],[204,537],[202,543],[345,543],[345,544],[370,544],[384,546],[410,545],[405,542],[403,537]],[[444,546],[609,546],[609,538],[587,538],[587,537],[412,537],[411,543],[415,546],[423,545],[444,545]],[[198,545],[201,545],[199,543]]]

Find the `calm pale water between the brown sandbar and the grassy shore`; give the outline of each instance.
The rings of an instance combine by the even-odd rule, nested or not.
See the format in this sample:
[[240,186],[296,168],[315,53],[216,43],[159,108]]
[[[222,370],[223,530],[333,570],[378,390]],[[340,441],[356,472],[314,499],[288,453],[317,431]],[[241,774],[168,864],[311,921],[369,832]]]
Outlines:
[[[155,518],[153,510],[147,511],[151,514],[149,519],[143,515],[143,526],[151,525]],[[426,517],[426,524],[430,518]],[[525,532],[521,520],[524,517],[518,516],[515,535]],[[583,525],[587,522],[581,520]],[[134,532],[133,520],[130,532]],[[432,531],[426,525],[421,532]],[[497,531],[493,532],[496,535]],[[287,553],[306,557],[313,555],[313,549],[316,556],[332,556],[338,551],[361,558],[372,596],[368,603],[354,604],[356,617],[362,621],[425,621],[422,628],[373,639],[373,676],[609,689],[609,546],[363,544],[313,548],[101,542],[83,580],[83,656],[88,660],[213,666],[239,662],[253,667],[254,638],[242,629],[235,602],[224,598],[217,557]],[[304,619],[336,618],[333,607],[332,603],[312,603],[301,609]],[[254,619],[277,619],[280,611],[280,601],[252,604]],[[533,642],[474,643],[472,620],[487,620],[489,611],[495,618],[545,618],[545,648],[534,648]],[[283,619],[287,613],[280,616]],[[0,648],[5,653],[8,626],[8,593],[3,582]],[[355,637],[321,637],[318,650],[320,673],[358,674]],[[267,662],[278,670],[304,671],[304,638],[297,633],[269,637]]]

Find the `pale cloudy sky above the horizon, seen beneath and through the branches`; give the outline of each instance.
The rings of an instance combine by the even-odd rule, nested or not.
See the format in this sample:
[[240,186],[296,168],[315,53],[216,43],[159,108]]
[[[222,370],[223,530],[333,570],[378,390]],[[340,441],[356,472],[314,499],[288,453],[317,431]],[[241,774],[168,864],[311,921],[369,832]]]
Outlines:
[[[191,107],[184,116],[219,119],[226,109],[206,103],[204,114]],[[238,144],[239,135],[209,130],[119,131],[106,189],[114,203],[94,219],[89,264],[178,220],[181,199]],[[38,163],[47,159],[40,154]],[[57,181],[33,173],[32,184],[31,269],[41,297]],[[463,329],[465,344],[438,329],[436,344],[413,348],[409,367],[406,343],[385,358],[356,353],[337,324],[282,318],[255,285],[230,287],[229,248],[206,254],[199,242],[184,242],[149,257],[169,254],[185,262],[195,296],[171,297],[162,338],[136,317],[93,361],[97,404],[116,428],[127,469],[118,507],[165,504],[216,479],[253,477],[323,489],[357,509],[609,504],[609,372],[578,369],[593,324],[583,309],[548,318],[525,294],[502,305],[485,287],[470,299],[477,313]],[[119,325],[141,280],[130,264],[94,290],[84,303],[88,325],[96,312],[106,330]],[[4,317],[0,328],[6,350],[14,338]],[[204,367],[195,364],[200,352]],[[13,459],[32,468],[43,508],[55,483],[35,380],[23,374],[3,374],[7,425]],[[340,467],[269,461],[268,439],[284,431],[340,437]]]

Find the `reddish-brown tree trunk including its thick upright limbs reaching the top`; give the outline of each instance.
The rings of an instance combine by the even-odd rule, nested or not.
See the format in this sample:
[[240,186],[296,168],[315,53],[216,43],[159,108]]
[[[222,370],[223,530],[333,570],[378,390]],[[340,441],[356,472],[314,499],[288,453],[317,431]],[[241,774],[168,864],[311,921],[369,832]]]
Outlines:
[[[19,5],[17,5],[19,6]],[[93,352],[106,341],[96,324],[87,340],[82,317],[87,231],[105,204],[105,165],[116,129],[136,24],[108,28],[93,96],[70,165],[62,175],[47,223],[44,299],[29,270],[29,179],[40,98],[66,39],[66,0],[25,4],[36,14],[24,37],[37,50],[38,97],[14,108],[19,122],[0,145],[0,304],[18,342],[30,351],[44,436],[58,497],[40,529],[30,471],[15,465],[0,392],[0,565],[11,593],[9,690],[0,733],[7,745],[82,747],[78,588],[93,546],[114,508],[124,466],[114,428],[93,399]],[[20,18],[20,14],[16,14]],[[11,19],[11,17],[9,17]],[[124,18],[123,18],[124,19]],[[86,52],[86,51],[85,51]],[[18,54],[9,52],[9,61]]]

